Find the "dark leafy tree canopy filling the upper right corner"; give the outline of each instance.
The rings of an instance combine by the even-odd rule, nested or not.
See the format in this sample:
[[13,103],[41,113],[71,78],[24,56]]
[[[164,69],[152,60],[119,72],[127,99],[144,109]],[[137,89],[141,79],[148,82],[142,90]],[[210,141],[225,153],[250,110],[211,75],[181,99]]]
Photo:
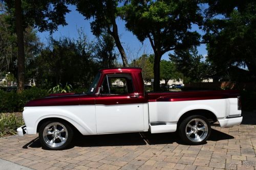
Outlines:
[[222,76],[232,67],[244,67],[256,80],[256,2],[207,1],[205,41],[208,58]]

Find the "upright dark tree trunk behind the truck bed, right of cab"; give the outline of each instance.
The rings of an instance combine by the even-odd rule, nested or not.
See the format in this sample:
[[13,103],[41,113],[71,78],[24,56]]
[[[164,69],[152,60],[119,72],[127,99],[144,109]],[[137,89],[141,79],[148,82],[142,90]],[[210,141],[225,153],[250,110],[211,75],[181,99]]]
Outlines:
[[160,91],[160,61],[161,55],[156,51],[154,58],[154,91]]

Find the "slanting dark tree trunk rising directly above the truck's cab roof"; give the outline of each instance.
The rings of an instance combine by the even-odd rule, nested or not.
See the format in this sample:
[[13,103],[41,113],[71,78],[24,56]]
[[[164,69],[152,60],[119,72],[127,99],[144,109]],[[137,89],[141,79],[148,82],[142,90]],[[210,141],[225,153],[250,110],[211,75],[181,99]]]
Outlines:
[[122,58],[122,61],[123,61],[123,66],[124,67],[128,67],[128,60],[127,60],[127,57],[126,57],[126,54],[123,50],[123,46],[121,44],[121,41],[119,39],[119,35],[118,35],[118,28],[117,28],[117,25],[116,25],[116,19],[113,18],[112,19],[112,22],[113,22],[113,31],[112,31],[112,36],[114,37],[115,39],[115,42],[116,42],[116,46],[118,48],[118,51],[121,55],[121,58]]

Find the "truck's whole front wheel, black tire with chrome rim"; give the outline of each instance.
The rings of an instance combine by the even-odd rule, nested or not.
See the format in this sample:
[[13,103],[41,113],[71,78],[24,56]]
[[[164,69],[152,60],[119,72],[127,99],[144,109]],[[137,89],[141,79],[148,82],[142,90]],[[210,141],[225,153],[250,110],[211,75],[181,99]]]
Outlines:
[[60,120],[51,120],[39,128],[39,140],[49,150],[62,150],[68,147],[73,138],[73,129]]

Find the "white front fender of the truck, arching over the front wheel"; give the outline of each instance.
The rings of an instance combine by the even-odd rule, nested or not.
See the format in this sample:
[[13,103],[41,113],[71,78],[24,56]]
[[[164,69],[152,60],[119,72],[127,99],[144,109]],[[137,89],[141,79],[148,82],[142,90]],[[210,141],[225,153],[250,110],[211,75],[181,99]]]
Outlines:
[[36,134],[38,123],[45,118],[61,118],[83,135],[96,134],[95,106],[26,107],[23,112],[28,134]]

